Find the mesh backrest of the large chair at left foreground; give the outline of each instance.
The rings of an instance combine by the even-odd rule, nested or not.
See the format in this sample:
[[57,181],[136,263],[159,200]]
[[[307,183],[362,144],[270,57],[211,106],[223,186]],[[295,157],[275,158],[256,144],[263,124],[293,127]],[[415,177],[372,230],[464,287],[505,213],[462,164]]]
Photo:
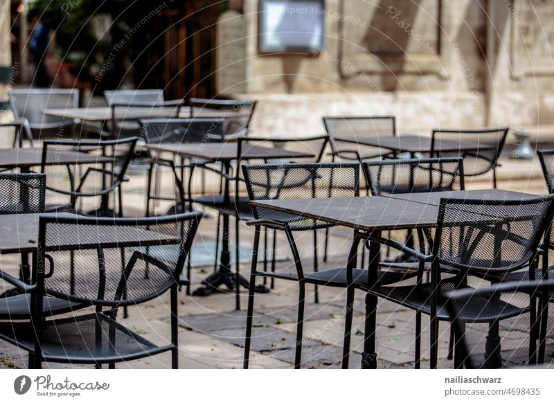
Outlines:
[[105,306],[156,298],[181,275],[201,217],[40,217],[46,293]]

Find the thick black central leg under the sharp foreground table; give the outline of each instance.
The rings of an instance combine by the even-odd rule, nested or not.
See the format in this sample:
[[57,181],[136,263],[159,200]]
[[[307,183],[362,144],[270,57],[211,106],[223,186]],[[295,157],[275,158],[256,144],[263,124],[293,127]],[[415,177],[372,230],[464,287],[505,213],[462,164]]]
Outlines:
[[[374,233],[380,236],[379,233]],[[379,258],[381,248],[376,242],[369,244],[368,289],[377,283],[377,271],[379,270]],[[361,368],[377,368],[377,352],[375,351],[375,332],[377,330],[377,296],[368,292],[366,294],[366,319],[364,323],[364,352],[361,353]]]

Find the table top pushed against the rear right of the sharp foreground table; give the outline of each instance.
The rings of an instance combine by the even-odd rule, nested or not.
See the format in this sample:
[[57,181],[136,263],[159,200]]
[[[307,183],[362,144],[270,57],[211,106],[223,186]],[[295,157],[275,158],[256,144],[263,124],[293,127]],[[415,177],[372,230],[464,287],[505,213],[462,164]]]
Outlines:
[[523,201],[540,197],[531,193],[515,192],[502,189],[476,189],[476,190],[452,190],[445,192],[400,193],[396,195],[384,195],[393,199],[402,199],[410,202],[440,205],[440,199],[481,199],[481,200],[506,200]]

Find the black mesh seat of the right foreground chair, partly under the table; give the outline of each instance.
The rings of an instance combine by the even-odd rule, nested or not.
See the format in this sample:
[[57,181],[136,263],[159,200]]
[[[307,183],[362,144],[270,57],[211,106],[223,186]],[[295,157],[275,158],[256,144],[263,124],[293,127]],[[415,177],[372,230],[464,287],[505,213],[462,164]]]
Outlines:
[[[447,292],[454,291],[456,284],[454,281],[445,280],[440,284],[440,293],[442,295]],[[412,310],[422,312],[424,314],[431,313],[431,283],[424,283],[419,287],[416,285],[406,285],[401,287],[372,287],[367,290],[371,294],[409,307]],[[446,298],[439,298],[437,315],[441,321],[451,321],[446,307]],[[499,298],[484,298],[472,297],[464,305],[460,312],[461,321],[472,323],[490,322],[494,319],[508,319],[512,316],[517,316],[524,313],[528,308],[520,308]]]

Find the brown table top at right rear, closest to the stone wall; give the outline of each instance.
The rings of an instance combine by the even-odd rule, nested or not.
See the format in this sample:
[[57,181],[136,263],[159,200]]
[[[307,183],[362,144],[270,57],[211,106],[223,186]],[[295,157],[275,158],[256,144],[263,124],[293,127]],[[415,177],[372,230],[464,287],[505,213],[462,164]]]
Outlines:
[[[406,134],[404,136],[374,136],[374,137],[358,137],[352,138],[348,136],[333,136],[335,141],[346,141],[348,143],[358,143],[361,145],[370,145],[372,147],[386,148],[387,150],[397,152],[430,152],[431,138],[424,136],[415,136]],[[435,149],[443,152],[446,151],[471,151],[484,150],[488,147],[493,147],[485,143],[473,143],[471,141],[451,141],[451,140],[436,140]]]

